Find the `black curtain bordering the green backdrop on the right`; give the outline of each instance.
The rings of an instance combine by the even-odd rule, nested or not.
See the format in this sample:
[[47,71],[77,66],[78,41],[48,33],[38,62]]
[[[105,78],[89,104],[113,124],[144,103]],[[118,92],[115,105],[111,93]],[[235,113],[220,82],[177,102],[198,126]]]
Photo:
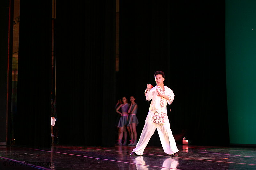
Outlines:
[[183,5],[173,3],[171,8],[171,67],[177,89],[173,119],[179,122],[173,127],[184,130],[195,144],[228,145],[225,2]]

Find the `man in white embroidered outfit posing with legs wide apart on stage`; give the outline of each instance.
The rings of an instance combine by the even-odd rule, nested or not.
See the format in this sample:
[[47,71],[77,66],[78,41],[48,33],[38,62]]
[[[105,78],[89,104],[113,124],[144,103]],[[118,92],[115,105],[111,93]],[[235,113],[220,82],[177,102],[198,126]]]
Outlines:
[[148,141],[157,128],[164,152],[177,157],[179,150],[170,129],[166,110],[166,105],[172,103],[174,94],[170,88],[164,86],[164,72],[156,71],[154,77],[157,85],[153,87],[148,84],[145,90],[146,100],[150,101],[152,99],[149,112],[140,139],[130,156],[143,155]]

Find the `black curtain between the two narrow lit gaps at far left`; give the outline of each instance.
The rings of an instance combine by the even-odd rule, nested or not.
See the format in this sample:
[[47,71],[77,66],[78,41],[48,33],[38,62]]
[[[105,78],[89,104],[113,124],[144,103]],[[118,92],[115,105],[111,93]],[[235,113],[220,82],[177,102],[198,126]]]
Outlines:
[[15,144],[51,143],[52,1],[20,1],[19,76]]

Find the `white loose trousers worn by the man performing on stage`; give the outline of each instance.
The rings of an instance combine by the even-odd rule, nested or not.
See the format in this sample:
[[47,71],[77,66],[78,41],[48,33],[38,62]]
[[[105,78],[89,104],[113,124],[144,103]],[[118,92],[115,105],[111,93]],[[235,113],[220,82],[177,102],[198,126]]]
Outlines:
[[152,123],[150,119],[147,119],[136,148],[133,149],[132,152],[135,152],[138,155],[143,155],[144,149],[146,148],[156,129],[165,153],[170,155],[179,151],[170,129],[169,120],[167,118],[165,124]]

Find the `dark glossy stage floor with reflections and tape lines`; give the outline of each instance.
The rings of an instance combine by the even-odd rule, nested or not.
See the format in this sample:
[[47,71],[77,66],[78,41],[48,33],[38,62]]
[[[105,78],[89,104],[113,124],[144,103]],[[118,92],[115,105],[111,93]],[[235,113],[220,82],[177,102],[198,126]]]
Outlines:
[[256,169],[256,148],[178,145],[179,157],[161,147],[146,147],[130,157],[134,146],[92,147],[52,144],[51,148],[0,146],[0,169]]

